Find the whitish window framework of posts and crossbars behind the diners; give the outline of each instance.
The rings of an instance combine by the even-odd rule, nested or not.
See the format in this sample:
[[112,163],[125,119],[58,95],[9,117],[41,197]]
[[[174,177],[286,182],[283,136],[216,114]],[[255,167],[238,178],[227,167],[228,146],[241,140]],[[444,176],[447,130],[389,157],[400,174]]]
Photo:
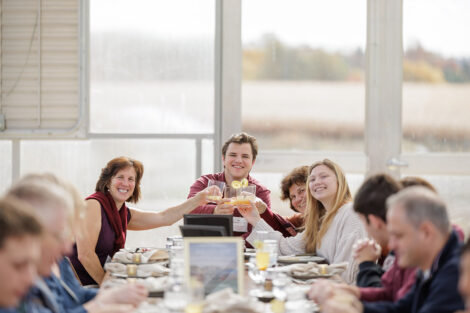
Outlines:
[[[202,173],[202,140],[213,140],[213,169],[222,170],[220,151],[231,134],[241,131],[241,1],[215,0],[215,73],[214,133],[206,134],[129,134],[91,133],[89,131],[89,0],[80,1],[80,127],[62,136],[32,131],[2,136],[12,142],[12,181],[20,175],[22,139],[95,138],[170,138],[194,139],[196,177]],[[255,170],[287,172],[299,164],[329,157],[338,161],[346,172],[401,172],[415,175],[470,175],[470,153],[405,153],[402,142],[402,25],[403,0],[367,0],[366,111],[363,153],[332,151],[262,150]],[[386,127],[384,127],[386,125]],[[386,143],[386,144],[383,144]],[[380,147],[380,149],[377,149]],[[402,162],[400,162],[402,160]],[[395,161],[395,164],[391,164]],[[396,162],[398,161],[398,162]],[[406,168],[406,164],[409,167]],[[439,166],[436,166],[438,164]],[[401,167],[405,166],[405,167]]]

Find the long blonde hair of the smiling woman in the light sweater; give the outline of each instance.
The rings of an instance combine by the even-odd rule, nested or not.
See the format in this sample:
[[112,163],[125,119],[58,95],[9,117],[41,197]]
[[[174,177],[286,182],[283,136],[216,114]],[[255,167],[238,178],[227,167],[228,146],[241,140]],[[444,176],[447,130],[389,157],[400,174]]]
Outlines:
[[315,167],[320,165],[324,165],[333,171],[338,181],[338,190],[333,207],[326,211],[323,204],[312,196],[310,188],[308,187],[310,179],[307,179],[307,212],[305,216],[304,240],[306,242],[305,250],[309,253],[315,252],[317,248],[321,246],[321,240],[330,227],[339,208],[352,199],[348,183],[346,182],[346,176],[341,167],[333,161],[324,159],[323,161],[313,163],[308,169],[309,175]]

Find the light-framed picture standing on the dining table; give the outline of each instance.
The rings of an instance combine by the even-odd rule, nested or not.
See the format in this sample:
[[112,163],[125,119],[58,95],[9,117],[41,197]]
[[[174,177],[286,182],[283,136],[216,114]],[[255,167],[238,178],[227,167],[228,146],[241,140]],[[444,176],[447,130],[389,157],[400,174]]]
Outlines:
[[240,237],[186,237],[185,279],[197,279],[205,294],[224,288],[244,292],[244,242]]

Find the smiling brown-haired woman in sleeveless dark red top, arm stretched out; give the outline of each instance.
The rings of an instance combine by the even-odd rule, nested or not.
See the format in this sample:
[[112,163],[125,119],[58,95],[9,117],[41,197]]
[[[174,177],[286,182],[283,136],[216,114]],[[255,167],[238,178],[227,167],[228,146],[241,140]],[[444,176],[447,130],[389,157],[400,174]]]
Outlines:
[[[141,162],[118,157],[101,170],[95,193],[86,198],[82,235],[77,239],[70,259],[83,285],[100,284],[103,265],[124,248],[127,230],[146,230],[168,226],[207,202],[207,196],[218,188],[211,186],[182,204],[161,212],[128,208],[126,202],[140,198],[140,180],[144,173]],[[210,190],[209,190],[210,189]],[[220,192],[219,192],[220,193]]]

